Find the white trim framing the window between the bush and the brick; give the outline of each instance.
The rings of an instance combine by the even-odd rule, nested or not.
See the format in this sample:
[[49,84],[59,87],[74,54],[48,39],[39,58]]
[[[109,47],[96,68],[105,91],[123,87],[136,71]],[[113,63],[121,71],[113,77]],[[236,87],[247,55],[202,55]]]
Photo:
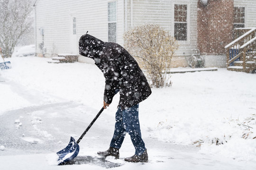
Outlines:
[[190,3],[189,0],[188,1],[174,1],[172,2],[172,21],[171,21],[171,26],[172,26],[172,31],[171,31],[171,35],[174,37],[174,23],[184,23],[184,22],[174,22],[174,4],[175,5],[187,5],[187,40],[186,41],[181,41],[181,40],[177,40],[177,42],[179,42],[179,44],[190,44]]

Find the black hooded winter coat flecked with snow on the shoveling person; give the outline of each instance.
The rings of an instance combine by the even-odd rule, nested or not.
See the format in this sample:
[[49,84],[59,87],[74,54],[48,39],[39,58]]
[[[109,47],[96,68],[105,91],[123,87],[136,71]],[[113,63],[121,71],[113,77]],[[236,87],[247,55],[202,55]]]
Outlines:
[[143,100],[151,89],[136,60],[122,46],[114,42],[103,42],[89,34],[79,40],[79,53],[94,59],[106,79],[104,101],[111,103],[119,90],[119,105],[127,109]]

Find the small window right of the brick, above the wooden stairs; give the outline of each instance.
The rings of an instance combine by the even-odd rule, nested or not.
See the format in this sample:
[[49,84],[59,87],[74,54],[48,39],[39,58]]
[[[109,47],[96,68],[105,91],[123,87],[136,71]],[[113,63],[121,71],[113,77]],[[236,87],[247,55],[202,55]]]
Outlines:
[[234,7],[234,28],[245,27],[245,7]]

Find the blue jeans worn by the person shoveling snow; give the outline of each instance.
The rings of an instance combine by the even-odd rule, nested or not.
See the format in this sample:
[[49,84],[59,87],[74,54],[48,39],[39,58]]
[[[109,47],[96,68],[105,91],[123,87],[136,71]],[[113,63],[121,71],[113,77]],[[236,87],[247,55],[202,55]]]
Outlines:
[[110,143],[111,147],[120,149],[127,132],[135,147],[135,154],[141,155],[144,153],[146,148],[145,143],[141,138],[138,106],[139,104],[136,104],[126,110],[121,110],[121,107],[118,108],[116,112],[115,132]]

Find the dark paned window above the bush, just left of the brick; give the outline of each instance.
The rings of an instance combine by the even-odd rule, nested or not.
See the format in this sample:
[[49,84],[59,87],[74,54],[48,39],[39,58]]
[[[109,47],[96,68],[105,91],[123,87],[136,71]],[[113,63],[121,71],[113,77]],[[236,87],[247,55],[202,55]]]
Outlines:
[[174,37],[187,41],[187,5],[174,4]]

